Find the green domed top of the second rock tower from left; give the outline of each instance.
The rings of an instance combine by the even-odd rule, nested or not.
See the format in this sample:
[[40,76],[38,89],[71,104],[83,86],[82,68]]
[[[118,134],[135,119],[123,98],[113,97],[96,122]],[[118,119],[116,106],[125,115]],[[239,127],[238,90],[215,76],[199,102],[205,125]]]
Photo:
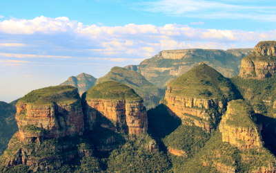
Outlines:
[[111,100],[141,100],[133,89],[115,81],[101,82],[86,91],[83,98],[111,99]]

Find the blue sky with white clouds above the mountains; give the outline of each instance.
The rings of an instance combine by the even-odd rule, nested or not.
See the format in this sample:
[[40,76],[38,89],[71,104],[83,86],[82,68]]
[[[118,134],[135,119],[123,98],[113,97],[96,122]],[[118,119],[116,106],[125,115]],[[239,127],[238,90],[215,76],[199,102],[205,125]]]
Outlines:
[[275,28],[270,0],[1,0],[0,101],[162,50],[253,48]]

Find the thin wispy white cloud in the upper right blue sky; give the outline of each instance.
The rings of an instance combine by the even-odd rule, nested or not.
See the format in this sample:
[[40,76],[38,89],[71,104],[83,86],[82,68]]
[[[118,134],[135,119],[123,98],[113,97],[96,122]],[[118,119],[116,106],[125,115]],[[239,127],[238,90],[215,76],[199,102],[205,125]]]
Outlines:
[[[166,15],[206,18],[206,19],[253,19],[276,22],[276,7],[269,3],[259,6],[241,5],[241,1],[208,0],[159,0],[140,3],[149,12],[161,12]],[[146,6],[146,7],[145,7]]]

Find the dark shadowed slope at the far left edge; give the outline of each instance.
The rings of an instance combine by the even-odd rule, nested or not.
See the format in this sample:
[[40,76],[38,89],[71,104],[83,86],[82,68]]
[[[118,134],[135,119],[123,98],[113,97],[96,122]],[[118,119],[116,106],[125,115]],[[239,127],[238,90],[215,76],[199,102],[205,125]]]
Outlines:
[[18,131],[15,113],[17,108],[12,104],[0,102],[0,154],[7,149],[10,138]]

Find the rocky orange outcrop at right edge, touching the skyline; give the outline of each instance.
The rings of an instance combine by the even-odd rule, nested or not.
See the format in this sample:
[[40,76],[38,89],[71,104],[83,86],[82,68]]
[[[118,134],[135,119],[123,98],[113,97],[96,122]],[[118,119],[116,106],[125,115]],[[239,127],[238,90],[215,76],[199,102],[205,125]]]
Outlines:
[[259,42],[250,55],[242,59],[241,78],[264,80],[276,71],[276,42]]

